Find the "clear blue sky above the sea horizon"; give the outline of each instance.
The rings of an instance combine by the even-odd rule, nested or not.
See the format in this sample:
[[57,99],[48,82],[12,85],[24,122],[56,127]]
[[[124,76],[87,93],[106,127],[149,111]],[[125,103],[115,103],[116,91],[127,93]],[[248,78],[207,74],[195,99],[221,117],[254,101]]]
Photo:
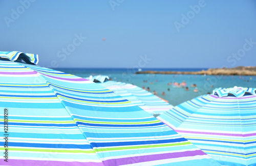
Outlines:
[[0,50],[38,54],[41,66],[256,65],[253,0],[28,2],[0,0]]

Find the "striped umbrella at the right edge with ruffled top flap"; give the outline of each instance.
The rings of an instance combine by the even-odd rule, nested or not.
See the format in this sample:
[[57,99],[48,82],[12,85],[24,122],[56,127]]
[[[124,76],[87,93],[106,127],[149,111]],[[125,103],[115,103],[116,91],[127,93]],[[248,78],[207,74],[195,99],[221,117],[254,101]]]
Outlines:
[[222,165],[256,165],[255,88],[217,88],[158,119]]

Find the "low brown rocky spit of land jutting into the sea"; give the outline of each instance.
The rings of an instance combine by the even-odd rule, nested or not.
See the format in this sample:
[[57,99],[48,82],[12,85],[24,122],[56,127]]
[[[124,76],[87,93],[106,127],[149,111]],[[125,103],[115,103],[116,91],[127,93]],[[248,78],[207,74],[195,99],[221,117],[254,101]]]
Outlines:
[[136,74],[182,74],[182,75],[226,75],[226,76],[256,76],[256,66],[238,66],[234,68],[209,68],[199,72],[158,72],[158,71],[141,71]]

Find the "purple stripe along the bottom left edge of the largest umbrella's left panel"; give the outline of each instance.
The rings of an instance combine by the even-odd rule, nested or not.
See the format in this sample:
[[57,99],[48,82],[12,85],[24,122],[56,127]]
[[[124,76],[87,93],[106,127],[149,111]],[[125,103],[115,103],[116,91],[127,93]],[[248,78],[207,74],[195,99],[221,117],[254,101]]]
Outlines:
[[49,161],[49,160],[18,160],[8,159],[8,162],[4,161],[4,158],[0,160],[0,165],[61,165],[61,166],[104,166],[102,162],[77,162],[77,161]]

